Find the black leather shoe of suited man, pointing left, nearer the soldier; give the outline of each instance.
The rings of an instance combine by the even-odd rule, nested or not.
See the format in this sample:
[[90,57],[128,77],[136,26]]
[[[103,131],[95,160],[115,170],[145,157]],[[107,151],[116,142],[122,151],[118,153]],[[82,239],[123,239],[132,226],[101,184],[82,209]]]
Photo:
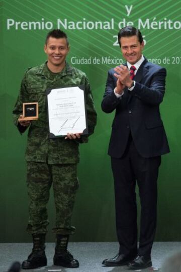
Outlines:
[[102,264],[106,266],[120,266],[120,265],[126,265],[130,261],[132,261],[135,258],[135,255],[132,254],[117,254],[114,258],[112,259],[105,259]]

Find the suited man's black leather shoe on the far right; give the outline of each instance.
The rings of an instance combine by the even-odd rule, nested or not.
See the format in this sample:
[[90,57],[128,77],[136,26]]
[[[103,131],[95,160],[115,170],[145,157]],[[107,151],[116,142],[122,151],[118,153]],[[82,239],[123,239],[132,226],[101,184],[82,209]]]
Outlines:
[[128,264],[130,269],[143,269],[152,266],[151,257],[138,255],[133,261]]

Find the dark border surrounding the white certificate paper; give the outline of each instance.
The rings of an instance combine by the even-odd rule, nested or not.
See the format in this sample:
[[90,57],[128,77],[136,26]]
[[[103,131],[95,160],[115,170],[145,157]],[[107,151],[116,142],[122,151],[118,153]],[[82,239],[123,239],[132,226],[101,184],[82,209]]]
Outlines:
[[52,89],[62,89],[62,88],[70,88],[70,87],[79,87],[80,89],[83,90],[83,97],[84,97],[84,112],[85,112],[85,125],[86,128],[83,130],[83,132],[81,133],[81,135],[87,135],[88,134],[88,123],[87,123],[87,111],[86,111],[86,97],[85,97],[85,85],[81,84],[81,85],[66,85],[66,86],[62,86],[62,87],[58,87],[58,88],[47,88],[45,90],[45,94],[46,94],[46,108],[47,108],[47,119],[48,119],[48,138],[49,139],[53,139],[53,138],[59,138],[59,137],[65,137],[66,135],[57,135],[55,136],[55,134],[50,132],[50,125],[49,125],[49,110],[48,110],[48,95],[51,93]]

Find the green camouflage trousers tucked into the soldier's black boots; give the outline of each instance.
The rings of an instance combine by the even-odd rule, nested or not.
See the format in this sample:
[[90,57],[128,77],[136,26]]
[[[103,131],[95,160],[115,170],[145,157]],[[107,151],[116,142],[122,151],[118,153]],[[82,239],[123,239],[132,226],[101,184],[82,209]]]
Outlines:
[[27,186],[30,198],[29,233],[47,233],[47,203],[53,186],[56,234],[73,234],[71,215],[78,189],[77,164],[27,162]]

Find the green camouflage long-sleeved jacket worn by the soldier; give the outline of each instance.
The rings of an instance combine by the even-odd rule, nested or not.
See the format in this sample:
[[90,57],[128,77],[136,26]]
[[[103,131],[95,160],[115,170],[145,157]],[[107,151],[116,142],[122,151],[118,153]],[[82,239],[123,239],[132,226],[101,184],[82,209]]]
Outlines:
[[91,135],[96,126],[97,114],[88,79],[82,71],[68,65],[60,73],[52,73],[46,63],[26,71],[21,83],[20,94],[13,110],[14,123],[20,133],[27,128],[19,124],[22,104],[38,102],[39,118],[32,121],[28,131],[28,143],[25,153],[27,161],[56,163],[77,163],[79,161],[78,144],[87,142],[88,136],[82,135],[80,140],[65,140],[64,137],[48,138],[48,120],[46,108],[47,88],[85,85],[88,132]]

